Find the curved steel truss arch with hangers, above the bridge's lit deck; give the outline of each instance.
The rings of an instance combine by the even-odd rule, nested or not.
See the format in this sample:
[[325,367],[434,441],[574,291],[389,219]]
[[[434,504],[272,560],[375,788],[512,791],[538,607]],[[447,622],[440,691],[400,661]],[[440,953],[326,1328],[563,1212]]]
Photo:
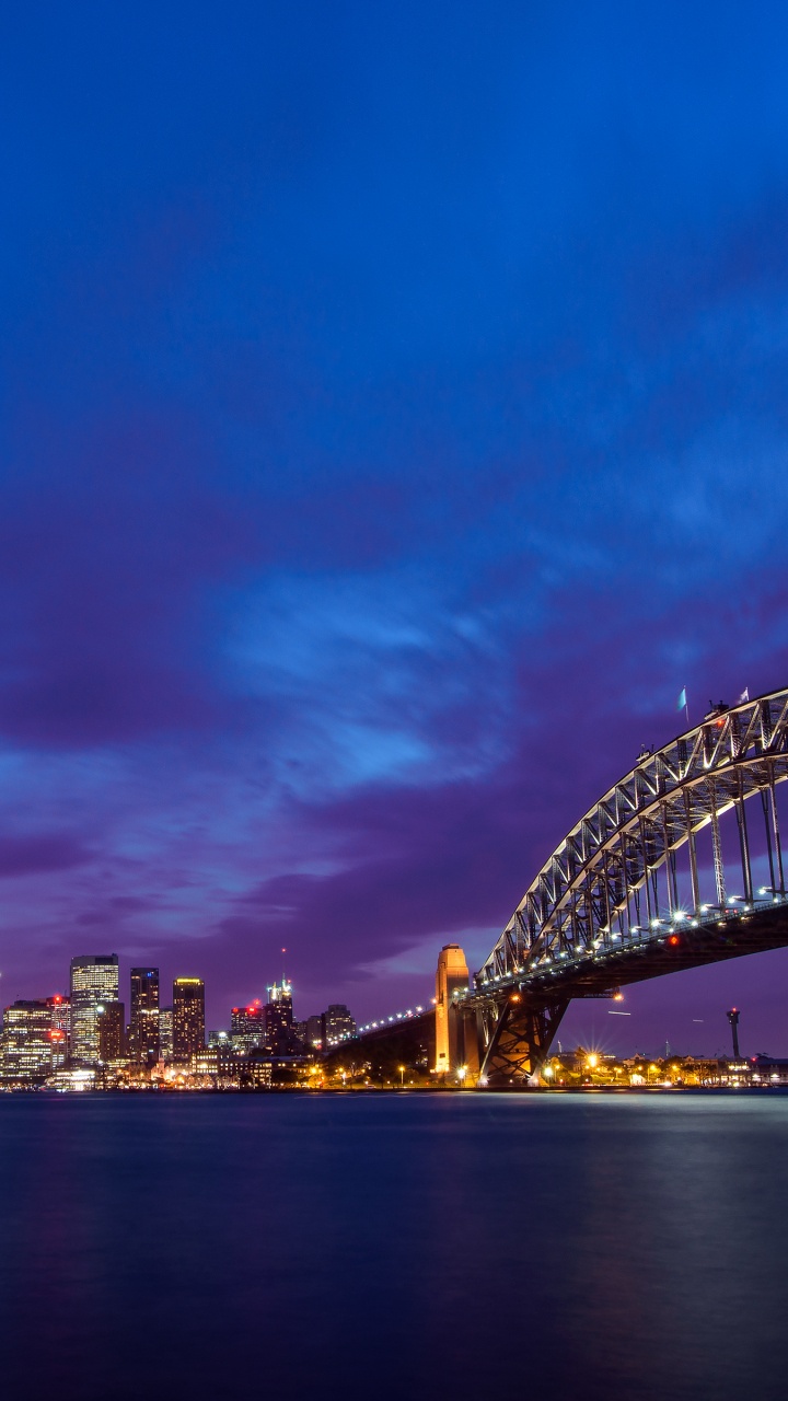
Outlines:
[[[768,894],[785,894],[777,785],[788,779],[788,689],[715,708],[693,730],[645,754],[596,803],[544,863],[489,957],[477,988],[540,960],[575,957],[595,944],[641,941],[655,922],[690,919],[729,902],[721,820],[738,827],[743,904],[756,899],[746,803],[760,796]],[[708,829],[712,899],[701,899],[697,838]],[[688,891],[676,855],[686,849]],[[662,880],[659,876],[662,874]],[[714,898],[715,897],[715,898]]]

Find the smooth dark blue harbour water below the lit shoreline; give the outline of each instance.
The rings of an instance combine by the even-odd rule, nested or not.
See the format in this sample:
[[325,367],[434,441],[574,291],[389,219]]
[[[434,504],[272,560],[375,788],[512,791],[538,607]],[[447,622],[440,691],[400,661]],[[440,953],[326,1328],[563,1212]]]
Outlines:
[[0,1096],[0,1386],[788,1394],[788,1098]]

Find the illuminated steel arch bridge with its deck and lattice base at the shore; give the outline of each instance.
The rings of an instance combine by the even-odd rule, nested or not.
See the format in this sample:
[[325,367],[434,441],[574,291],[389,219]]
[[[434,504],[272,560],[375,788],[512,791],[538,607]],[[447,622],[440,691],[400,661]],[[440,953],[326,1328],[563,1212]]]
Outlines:
[[534,1083],[573,998],[788,944],[787,778],[788,689],[712,706],[645,751],[552,852],[454,995],[457,1051],[478,1083]]

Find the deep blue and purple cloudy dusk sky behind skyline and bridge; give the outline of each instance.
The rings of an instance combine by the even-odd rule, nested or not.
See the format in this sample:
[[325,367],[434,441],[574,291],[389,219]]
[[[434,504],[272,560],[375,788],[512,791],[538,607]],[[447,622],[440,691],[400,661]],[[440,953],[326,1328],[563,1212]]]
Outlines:
[[[425,1003],[681,686],[788,684],[787,59],[722,0],[4,8],[4,1003]],[[562,1037],[733,1002],[788,1054],[788,951]]]

